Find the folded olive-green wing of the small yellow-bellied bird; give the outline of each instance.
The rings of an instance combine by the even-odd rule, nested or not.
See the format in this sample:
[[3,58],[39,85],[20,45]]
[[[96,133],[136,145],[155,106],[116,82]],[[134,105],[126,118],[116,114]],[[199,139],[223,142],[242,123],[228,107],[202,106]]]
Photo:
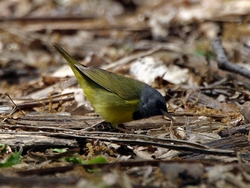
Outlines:
[[145,83],[138,80],[127,78],[102,69],[84,67],[79,64],[75,64],[75,66],[93,82],[109,92],[117,94],[124,100],[139,100],[141,90],[145,86]]

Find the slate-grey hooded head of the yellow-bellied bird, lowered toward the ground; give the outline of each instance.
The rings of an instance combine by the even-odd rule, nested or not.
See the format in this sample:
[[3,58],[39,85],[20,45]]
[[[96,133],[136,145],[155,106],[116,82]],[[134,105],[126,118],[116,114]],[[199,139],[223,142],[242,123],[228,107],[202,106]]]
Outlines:
[[165,99],[157,90],[145,84],[141,92],[140,104],[133,113],[133,119],[137,120],[162,115],[162,111],[167,113]]

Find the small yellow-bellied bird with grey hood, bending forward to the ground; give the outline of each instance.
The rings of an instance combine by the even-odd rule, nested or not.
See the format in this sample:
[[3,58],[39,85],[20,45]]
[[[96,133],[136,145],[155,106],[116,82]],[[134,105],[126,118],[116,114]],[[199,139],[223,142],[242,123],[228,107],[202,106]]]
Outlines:
[[54,47],[67,60],[94,110],[113,126],[162,114],[172,119],[163,96],[149,85],[84,66],[59,45],[54,44]]

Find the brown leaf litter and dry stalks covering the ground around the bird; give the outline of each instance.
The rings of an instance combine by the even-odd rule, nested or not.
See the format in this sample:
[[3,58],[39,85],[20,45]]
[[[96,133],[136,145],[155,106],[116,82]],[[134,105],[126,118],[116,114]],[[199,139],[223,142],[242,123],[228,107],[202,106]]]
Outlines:
[[[0,184],[248,187],[249,5],[1,1],[1,164],[17,157],[1,168]],[[85,65],[148,82],[175,121],[156,116],[113,130],[53,43]]]

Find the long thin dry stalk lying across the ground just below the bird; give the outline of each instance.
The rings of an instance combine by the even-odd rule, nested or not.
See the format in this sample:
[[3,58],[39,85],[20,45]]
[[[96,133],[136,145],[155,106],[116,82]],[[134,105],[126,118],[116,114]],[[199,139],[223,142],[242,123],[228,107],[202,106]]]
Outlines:
[[[0,132],[0,135],[6,134]],[[9,135],[16,134],[14,132],[9,132]],[[159,146],[163,148],[168,148],[177,151],[189,151],[194,153],[208,154],[208,155],[221,155],[221,156],[236,156],[234,150],[228,149],[213,149],[206,145],[201,145],[197,143],[192,143],[183,140],[175,139],[161,139],[154,138],[146,135],[134,135],[134,134],[124,134],[124,133],[108,133],[108,132],[81,132],[80,134],[69,134],[69,133],[50,133],[50,132],[21,132],[18,135],[42,135],[57,138],[68,138],[68,139],[98,139],[102,141],[123,143],[131,145],[151,145]]]

